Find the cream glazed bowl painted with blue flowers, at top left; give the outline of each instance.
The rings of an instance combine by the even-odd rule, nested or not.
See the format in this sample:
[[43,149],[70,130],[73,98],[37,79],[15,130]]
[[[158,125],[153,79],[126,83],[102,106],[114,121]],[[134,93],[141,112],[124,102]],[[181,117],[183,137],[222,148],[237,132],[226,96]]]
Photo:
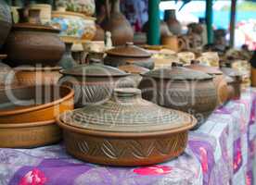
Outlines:
[[92,40],[96,34],[95,19],[80,13],[53,11],[51,25],[59,29],[59,35],[64,38]]

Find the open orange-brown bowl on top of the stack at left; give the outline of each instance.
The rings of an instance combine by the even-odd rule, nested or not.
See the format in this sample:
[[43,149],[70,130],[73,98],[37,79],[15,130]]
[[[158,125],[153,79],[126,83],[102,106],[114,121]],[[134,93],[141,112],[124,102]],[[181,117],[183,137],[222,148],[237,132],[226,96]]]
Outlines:
[[73,109],[74,92],[64,86],[22,86],[0,90],[0,124],[55,119]]

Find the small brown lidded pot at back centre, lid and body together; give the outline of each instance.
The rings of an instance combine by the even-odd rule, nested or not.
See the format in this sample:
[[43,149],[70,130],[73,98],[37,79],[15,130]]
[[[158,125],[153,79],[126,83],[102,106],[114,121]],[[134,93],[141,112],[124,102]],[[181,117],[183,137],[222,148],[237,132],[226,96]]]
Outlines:
[[154,68],[154,61],[145,49],[135,46],[134,43],[115,47],[106,52],[104,63],[112,67],[134,64],[140,67]]

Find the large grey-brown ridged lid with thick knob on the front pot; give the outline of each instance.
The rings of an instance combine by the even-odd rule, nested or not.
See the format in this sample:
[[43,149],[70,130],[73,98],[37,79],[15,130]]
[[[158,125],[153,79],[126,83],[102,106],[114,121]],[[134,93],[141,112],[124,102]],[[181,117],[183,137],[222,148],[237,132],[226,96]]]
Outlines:
[[155,105],[141,98],[134,88],[115,89],[112,98],[102,105],[88,105],[59,117],[64,124],[104,132],[154,132],[191,129],[195,117]]

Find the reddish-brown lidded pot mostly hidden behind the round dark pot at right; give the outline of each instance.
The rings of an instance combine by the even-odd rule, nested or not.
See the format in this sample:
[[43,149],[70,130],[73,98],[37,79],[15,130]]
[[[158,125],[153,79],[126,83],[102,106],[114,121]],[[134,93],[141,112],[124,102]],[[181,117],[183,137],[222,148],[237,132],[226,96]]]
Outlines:
[[223,105],[228,100],[228,97],[231,96],[224,79],[224,73],[219,68],[205,66],[199,64],[198,61],[192,61],[191,65],[186,66],[186,68],[202,71],[214,77],[213,81],[217,89],[218,105]]

